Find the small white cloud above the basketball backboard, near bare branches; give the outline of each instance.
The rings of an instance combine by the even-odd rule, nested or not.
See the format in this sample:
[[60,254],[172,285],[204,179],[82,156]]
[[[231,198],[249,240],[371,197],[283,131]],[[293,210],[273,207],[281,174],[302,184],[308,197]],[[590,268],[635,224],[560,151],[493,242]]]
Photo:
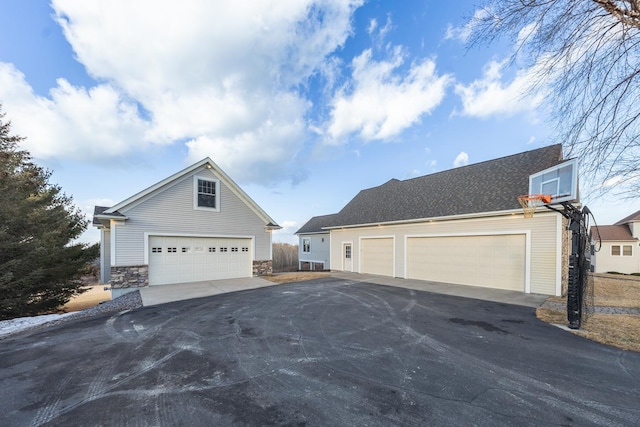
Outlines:
[[544,94],[538,92],[528,95],[535,69],[520,70],[509,82],[502,81],[503,68],[506,61],[489,62],[483,76],[468,85],[458,83],[455,92],[462,101],[462,112],[459,114],[472,117],[487,118],[491,116],[513,116],[519,113],[531,113],[542,103]]

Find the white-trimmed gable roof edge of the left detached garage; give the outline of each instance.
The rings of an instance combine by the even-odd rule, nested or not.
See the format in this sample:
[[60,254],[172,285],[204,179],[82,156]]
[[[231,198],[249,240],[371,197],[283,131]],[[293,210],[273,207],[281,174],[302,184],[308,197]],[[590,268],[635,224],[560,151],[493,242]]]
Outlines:
[[162,188],[164,188],[166,185],[169,185],[170,183],[176,181],[177,179],[182,178],[183,176],[201,168],[202,166],[207,166],[207,168],[212,169],[212,171],[218,175],[220,178],[222,178],[222,180],[225,182],[225,184],[227,185],[227,187],[236,195],[238,196],[241,200],[243,200],[247,206],[249,206],[249,208],[251,208],[257,215],[258,217],[260,217],[266,224],[266,226],[268,228],[271,229],[280,229],[282,227],[280,227],[269,215],[267,215],[267,213],[265,211],[262,210],[262,208],[260,206],[258,206],[258,204],[256,204],[256,202],[253,201],[253,199],[251,199],[251,197],[249,197],[247,195],[247,193],[245,193],[239,186],[238,184],[236,184],[222,169],[220,169],[220,167],[213,161],[211,160],[209,157],[206,157],[202,160],[200,160],[197,163],[194,163],[193,165],[189,166],[188,168],[185,168],[183,170],[181,170],[180,172],[177,172],[173,175],[171,175],[170,177],[163,179],[162,181],[152,185],[151,187],[148,187],[142,191],[140,191],[137,194],[134,194],[133,196],[129,197],[126,200],[123,200],[122,202],[111,206],[110,208],[106,208],[101,210],[100,212],[97,212],[98,209],[103,208],[103,206],[96,206],[95,211],[94,211],[94,217],[93,217],[93,223],[99,225],[100,224],[100,219],[127,219],[127,217],[125,215],[123,215],[122,213],[118,212],[118,210],[120,209],[124,209],[140,200],[142,200],[143,198],[152,195],[153,193],[157,192],[157,191],[161,191]]

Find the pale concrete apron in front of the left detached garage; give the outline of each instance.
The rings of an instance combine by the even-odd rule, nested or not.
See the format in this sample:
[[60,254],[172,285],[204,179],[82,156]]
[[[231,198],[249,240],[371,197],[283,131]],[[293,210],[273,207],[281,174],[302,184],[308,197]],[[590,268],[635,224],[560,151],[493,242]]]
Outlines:
[[264,288],[276,284],[277,283],[261,279],[260,277],[177,283],[174,285],[158,285],[140,288],[140,297],[142,298],[142,305],[147,307],[173,301],[244,291],[246,289]]

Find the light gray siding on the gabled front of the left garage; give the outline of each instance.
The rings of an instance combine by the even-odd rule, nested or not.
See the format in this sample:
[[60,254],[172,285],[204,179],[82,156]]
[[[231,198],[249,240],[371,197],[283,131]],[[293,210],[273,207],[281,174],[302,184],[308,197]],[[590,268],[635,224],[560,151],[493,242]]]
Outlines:
[[[218,179],[208,170],[199,170],[196,174]],[[264,222],[224,181],[220,180],[219,212],[194,209],[193,183],[193,175],[186,175],[163,191],[120,211],[129,219],[117,228],[116,265],[145,264],[145,233],[255,236],[254,259],[271,259],[271,233],[265,231]]]

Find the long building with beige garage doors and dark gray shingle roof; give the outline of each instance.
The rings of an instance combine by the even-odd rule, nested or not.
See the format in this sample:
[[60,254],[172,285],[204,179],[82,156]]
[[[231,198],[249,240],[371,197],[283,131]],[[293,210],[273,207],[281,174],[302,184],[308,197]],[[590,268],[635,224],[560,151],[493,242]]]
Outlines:
[[[543,173],[547,170],[552,171]],[[360,191],[340,212],[313,217],[302,226],[296,233],[301,263],[561,295],[570,243],[565,220],[545,208],[525,219],[517,197],[542,190],[550,194],[552,187],[560,194],[560,175],[567,170],[577,198],[577,163],[563,160],[559,144],[404,181],[391,179]],[[537,189],[532,175],[540,182]],[[328,262],[322,246],[327,240]]]

